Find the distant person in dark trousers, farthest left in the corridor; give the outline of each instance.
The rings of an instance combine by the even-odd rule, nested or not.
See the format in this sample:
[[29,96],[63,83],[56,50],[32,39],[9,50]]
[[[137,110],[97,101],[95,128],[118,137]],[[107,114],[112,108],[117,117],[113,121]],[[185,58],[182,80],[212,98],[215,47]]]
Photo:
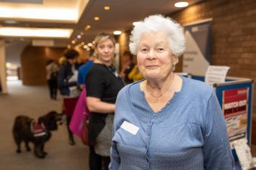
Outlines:
[[57,99],[57,74],[59,68],[52,59],[47,61],[47,84],[49,86],[49,95],[51,99]]

